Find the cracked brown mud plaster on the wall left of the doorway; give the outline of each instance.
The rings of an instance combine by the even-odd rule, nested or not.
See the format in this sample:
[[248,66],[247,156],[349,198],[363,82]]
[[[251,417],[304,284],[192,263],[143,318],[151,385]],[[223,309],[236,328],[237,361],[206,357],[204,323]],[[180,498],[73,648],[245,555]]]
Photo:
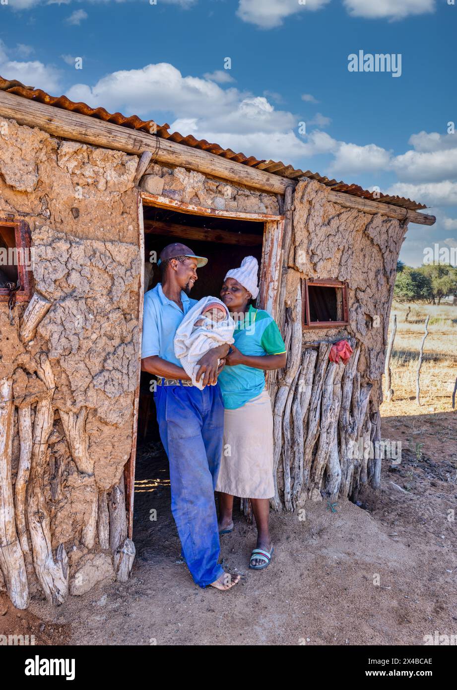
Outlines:
[[[137,162],[0,118],[0,217],[12,213],[27,221],[34,289],[52,303],[27,346],[19,339],[27,305],[15,306],[11,326],[8,306],[0,303],[0,378],[13,377],[17,405],[34,405],[45,395],[38,354],[50,358],[55,414],[44,486],[53,546],[78,543],[94,491],[70,457],[57,410],[88,408],[85,428],[99,489],[119,481],[130,457],[140,348]],[[13,480],[18,459],[19,442]]]

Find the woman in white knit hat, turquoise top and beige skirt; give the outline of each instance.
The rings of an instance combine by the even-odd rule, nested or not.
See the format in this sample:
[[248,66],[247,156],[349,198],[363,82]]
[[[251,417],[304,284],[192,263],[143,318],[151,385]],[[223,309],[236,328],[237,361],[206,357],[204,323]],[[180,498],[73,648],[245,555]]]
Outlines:
[[233,529],[233,497],[250,498],[257,526],[257,544],[250,568],[261,570],[273,553],[268,531],[273,483],[273,415],[264,371],[283,368],[285,344],[273,317],[256,309],[258,263],[245,257],[227,272],[221,300],[236,322],[234,344],[225,357],[219,385],[225,407],[224,445],[216,484],[219,491],[219,534]]

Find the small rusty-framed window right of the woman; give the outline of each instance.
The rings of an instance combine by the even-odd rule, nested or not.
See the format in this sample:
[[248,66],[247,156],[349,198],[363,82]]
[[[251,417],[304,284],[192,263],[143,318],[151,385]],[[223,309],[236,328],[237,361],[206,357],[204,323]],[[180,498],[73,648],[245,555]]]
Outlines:
[[349,323],[347,286],[339,280],[304,280],[303,328],[330,328]]

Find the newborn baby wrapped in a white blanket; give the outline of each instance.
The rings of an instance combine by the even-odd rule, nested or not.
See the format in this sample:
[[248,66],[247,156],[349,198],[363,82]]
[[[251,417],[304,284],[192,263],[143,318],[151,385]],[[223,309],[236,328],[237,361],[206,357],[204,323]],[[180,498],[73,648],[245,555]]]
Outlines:
[[234,342],[235,322],[227,307],[217,297],[203,297],[190,309],[174,336],[174,354],[194,386],[203,391],[203,376],[195,380],[197,362],[208,350]]

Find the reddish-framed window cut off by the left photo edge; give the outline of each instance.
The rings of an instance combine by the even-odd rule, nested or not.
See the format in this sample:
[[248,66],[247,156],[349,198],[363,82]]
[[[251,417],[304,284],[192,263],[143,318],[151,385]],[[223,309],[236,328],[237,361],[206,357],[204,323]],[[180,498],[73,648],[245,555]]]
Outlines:
[[18,286],[16,299],[25,302],[32,295],[32,249],[30,228],[23,221],[0,218],[0,302],[8,302],[8,283]]

